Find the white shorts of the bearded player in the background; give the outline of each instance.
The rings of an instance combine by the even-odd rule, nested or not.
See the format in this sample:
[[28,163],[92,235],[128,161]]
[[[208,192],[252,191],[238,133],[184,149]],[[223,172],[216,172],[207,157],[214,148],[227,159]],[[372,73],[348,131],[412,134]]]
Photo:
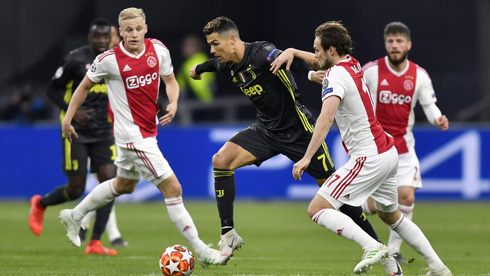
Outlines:
[[416,189],[422,188],[422,178],[420,177],[420,164],[415,149],[410,149],[407,153],[398,155],[398,173],[396,174],[396,184],[400,186],[410,186]]

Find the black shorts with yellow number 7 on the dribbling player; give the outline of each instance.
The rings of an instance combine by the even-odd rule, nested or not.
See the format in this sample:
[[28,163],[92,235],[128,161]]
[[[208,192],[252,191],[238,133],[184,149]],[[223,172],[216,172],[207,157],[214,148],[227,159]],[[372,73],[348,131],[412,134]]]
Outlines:
[[[311,137],[312,133],[305,132],[292,143],[279,142],[266,136],[260,129],[256,128],[255,124],[252,124],[235,134],[229,141],[253,154],[257,158],[255,165],[258,167],[262,162],[278,154],[283,154],[293,162],[298,162],[303,158]],[[327,179],[335,172],[335,166],[325,142],[311,158],[311,163],[306,172],[314,179]]]

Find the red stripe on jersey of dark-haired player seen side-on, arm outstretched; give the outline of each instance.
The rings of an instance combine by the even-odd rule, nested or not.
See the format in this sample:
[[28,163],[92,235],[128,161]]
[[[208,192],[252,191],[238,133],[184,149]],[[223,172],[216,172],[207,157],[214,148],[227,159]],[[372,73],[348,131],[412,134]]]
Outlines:
[[359,62],[352,56],[349,57],[350,60],[348,62],[340,62],[337,65],[343,66],[347,72],[349,72],[352,80],[356,84],[359,97],[361,98],[364,110],[368,116],[371,134],[373,135],[374,142],[378,147],[378,153],[383,153],[393,146],[393,138],[386,135],[383,127],[381,127],[381,124],[374,115],[373,104],[370,96],[371,92],[369,92],[369,87],[364,82],[364,71],[361,69],[361,64],[359,64]]

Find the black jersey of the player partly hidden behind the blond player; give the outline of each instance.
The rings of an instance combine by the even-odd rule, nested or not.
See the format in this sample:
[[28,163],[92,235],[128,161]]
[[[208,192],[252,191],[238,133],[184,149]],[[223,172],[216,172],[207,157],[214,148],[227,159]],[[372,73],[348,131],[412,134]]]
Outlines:
[[[96,54],[90,45],[72,50],[64,59],[63,65],[56,70],[48,88],[51,101],[61,109],[60,119],[63,121],[70,99],[82,82],[87,70],[90,68]],[[93,142],[113,137],[112,123],[108,118],[107,87],[104,82],[98,83],[90,89],[87,99],[80,109],[93,109],[91,118],[85,125],[75,120],[72,125],[79,135],[80,142]]]

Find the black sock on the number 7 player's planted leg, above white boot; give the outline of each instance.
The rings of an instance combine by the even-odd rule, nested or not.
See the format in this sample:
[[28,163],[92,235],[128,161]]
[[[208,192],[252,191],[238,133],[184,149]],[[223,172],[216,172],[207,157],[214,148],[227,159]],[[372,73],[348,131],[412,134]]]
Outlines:
[[216,203],[221,219],[221,234],[224,235],[234,227],[233,202],[235,201],[235,171],[214,169],[214,188]]

